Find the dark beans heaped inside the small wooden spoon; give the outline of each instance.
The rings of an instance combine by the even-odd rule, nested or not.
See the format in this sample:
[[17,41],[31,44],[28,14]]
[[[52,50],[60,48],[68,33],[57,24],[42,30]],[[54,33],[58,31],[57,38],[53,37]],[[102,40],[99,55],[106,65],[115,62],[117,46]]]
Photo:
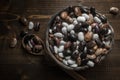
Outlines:
[[39,54],[43,50],[43,44],[36,35],[26,35],[23,44],[29,53]]

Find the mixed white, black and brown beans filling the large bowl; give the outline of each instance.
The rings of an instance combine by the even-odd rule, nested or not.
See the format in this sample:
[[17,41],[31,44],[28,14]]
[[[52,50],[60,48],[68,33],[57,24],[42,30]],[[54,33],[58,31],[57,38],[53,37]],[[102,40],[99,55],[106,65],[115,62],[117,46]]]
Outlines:
[[68,67],[94,67],[111,50],[113,34],[107,18],[94,7],[72,6],[52,20],[49,48]]

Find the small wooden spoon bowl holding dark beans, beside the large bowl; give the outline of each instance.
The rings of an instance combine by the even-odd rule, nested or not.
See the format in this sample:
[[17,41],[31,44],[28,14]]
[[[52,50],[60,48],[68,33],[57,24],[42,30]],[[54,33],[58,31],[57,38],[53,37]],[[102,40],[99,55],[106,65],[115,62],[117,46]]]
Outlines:
[[[37,42],[35,42],[35,38],[37,38]],[[22,46],[30,54],[33,55],[43,54],[44,50],[43,41],[35,34],[26,34],[22,38]]]

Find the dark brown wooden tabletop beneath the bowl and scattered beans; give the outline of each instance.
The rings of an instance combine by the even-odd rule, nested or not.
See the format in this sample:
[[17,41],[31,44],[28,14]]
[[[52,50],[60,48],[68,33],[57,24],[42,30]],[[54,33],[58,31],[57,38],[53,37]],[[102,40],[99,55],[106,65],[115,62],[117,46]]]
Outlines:
[[[25,15],[29,21],[39,21],[41,29],[33,33],[45,41],[44,34],[51,15],[69,5],[81,4],[94,6],[108,17],[115,31],[115,43],[112,52],[103,62],[92,69],[77,73],[86,80],[120,80],[120,14],[117,16],[109,14],[109,8],[112,6],[120,9],[120,0],[11,0],[7,8],[0,8],[0,13],[12,13],[11,15],[15,14],[18,17]],[[22,49],[19,38],[23,27],[17,19],[6,23],[17,34],[18,44],[11,49],[8,45],[9,39],[0,35],[0,80],[74,80],[57,66],[50,66],[44,56],[27,54]]]

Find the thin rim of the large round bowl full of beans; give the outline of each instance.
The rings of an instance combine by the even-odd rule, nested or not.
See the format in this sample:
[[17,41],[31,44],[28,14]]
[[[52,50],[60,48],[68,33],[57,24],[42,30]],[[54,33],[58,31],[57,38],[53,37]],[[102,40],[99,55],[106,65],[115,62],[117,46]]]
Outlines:
[[[87,8],[87,9],[89,9],[87,6],[83,6],[83,5],[81,5],[81,6],[72,6],[72,7],[84,7],[84,8]],[[49,48],[49,41],[48,41],[48,38],[49,38],[49,29],[50,29],[50,27],[52,26],[52,23],[53,23],[53,20],[55,19],[55,17],[57,16],[57,15],[59,15],[62,11],[64,11],[64,10],[66,10],[66,9],[68,9],[68,7],[66,7],[66,8],[64,8],[64,9],[62,9],[62,10],[60,10],[60,11],[58,11],[57,13],[55,13],[51,18],[50,18],[50,20],[49,20],[49,22],[48,22],[48,27],[47,27],[47,31],[46,31],[46,35],[45,35],[45,37],[46,37],[46,42],[45,42],[45,46],[46,46],[46,53],[54,60],[54,62],[58,65],[58,66],[60,66],[60,67],[62,67],[62,68],[65,68],[65,69],[68,69],[68,70],[84,70],[84,69],[86,69],[86,68],[88,68],[88,66],[87,65],[84,65],[84,66],[81,66],[81,67],[69,67],[69,66],[67,66],[67,65],[65,65],[64,63],[62,63],[61,61],[59,61],[56,57],[55,57],[55,55],[51,52],[51,50],[50,50],[50,48]],[[96,12],[98,15],[100,14],[100,13],[98,13],[98,12]],[[109,24],[109,22],[108,22],[108,24]],[[110,25],[110,24],[109,24]],[[112,37],[113,37],[113,39],[112,39],[112,46],[113,46],[113,44],[114,44],[114,30],[113,30],[113,28],[112,28],[112,26],[110,25],[110,28],[111,28],[111,30],[112,30],[112,32],[113,32],[113,35],[112,35]],[[111,51],[111,50],[110,50]]]

